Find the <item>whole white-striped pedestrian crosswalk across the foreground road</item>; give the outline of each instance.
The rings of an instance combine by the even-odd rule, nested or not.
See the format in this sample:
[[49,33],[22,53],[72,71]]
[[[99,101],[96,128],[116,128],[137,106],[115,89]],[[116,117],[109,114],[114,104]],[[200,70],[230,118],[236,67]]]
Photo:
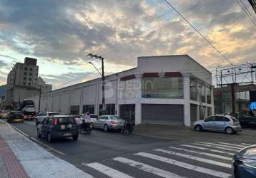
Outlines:
[[250,144],[193,142],[83,165],[93,177],[228,178],[232,177],[232,156],[247,146]]

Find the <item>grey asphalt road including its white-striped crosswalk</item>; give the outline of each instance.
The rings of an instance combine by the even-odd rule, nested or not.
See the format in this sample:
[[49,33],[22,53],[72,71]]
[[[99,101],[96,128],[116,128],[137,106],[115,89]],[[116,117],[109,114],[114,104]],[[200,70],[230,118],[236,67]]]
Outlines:
[[[11,125],[37,140],[34,122]],[[213,137],[217,135],[212,132]],[[48,143],[44,138],[39,142],[48,145],[46,149],[64,154],[50,150],[54,155],[99,178],[230,177],[232,155],[250,144],[246,140],[164,140],[102,130],[93,130],[91,135],[80,134],[76,142],[64,139]]]

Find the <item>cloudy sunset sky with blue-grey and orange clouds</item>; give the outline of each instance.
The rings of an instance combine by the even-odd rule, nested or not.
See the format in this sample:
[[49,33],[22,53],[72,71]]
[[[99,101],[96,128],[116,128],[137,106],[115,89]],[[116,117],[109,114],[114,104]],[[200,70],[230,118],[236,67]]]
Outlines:
[[0,85],[26,56],[54,89],[99,77],[88,53],[105,58],[106,74],[139,56],[188,54],[210,71],[256,62],[256,26],[237,1],[169,2],[228,61],[164,0],[0,0]]

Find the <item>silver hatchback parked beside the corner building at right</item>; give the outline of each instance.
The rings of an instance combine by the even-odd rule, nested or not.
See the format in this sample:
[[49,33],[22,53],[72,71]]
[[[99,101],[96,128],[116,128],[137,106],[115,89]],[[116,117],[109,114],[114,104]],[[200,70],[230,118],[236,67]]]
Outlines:
[[211,115],[204,120],[198,120],[194,123],[194,129],[226,132],[227,134],[242,131],[239,121],[230,115]]

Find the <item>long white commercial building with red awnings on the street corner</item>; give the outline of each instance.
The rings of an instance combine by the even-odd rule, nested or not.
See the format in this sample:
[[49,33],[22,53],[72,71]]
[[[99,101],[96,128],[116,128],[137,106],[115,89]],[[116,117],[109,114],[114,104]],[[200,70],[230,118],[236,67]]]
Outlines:
[[[187,55],[139,57],[137,68],[107,75],[107,114],[142,122],[190,126],[214,112],[212,74]],[[54,90],[41,110],[101,114],[102,80]]]

